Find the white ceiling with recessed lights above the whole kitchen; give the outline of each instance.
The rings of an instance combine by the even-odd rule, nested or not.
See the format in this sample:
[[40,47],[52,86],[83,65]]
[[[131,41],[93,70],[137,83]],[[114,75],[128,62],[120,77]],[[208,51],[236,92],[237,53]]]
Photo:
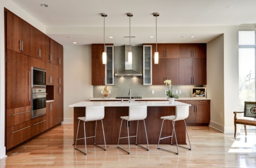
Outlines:
[[[256,23],[256,0],[12,0],[46,25],[46,33],[63,45],[103,43],[102,12],[106,43],[128,44],[132,12],[131,44],[155,43],[155,17],[158,43],[207,43],[221,32],[204,33],[197,26]],[[40,4],[47,4],[43,8]],[[228,7],[229,6],[229,7]],[[195,27],[191,27],[195,26]],[[109,36],[114,38],[110,39]],[[195,36],[190,38],[190,36]],[[72,44],[72,42],[77,44]]]

